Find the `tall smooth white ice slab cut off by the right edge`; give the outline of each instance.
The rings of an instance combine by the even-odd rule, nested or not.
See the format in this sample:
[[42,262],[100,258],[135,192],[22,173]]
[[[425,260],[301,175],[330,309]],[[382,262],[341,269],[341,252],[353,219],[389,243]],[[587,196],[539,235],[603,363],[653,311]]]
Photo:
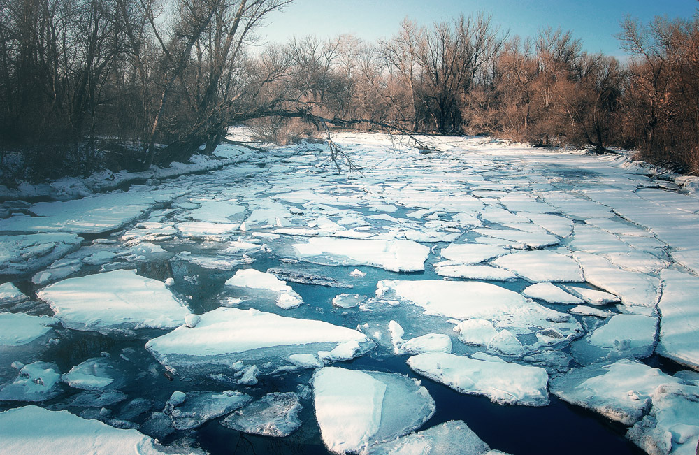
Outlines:
[[699,370],[699,278],[663,270],[660,310],[660,338],[656,352]]

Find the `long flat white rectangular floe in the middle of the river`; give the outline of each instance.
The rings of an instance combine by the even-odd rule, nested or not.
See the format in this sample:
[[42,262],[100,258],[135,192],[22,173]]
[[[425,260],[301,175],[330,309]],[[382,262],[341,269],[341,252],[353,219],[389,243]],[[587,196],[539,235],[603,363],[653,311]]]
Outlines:
[[298,259],[340,266],[373,266],[393,272],[424,270],[430,253],[425,245],[412,240],[361,240],[317,237],[308,243],[295,243]]

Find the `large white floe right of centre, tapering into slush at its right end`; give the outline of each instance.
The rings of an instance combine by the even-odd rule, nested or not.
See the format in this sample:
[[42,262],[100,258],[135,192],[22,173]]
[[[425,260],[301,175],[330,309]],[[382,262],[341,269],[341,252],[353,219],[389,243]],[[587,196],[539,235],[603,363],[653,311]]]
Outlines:
[[556,328],[568,340],[582,333],[582,326],[565,313],[550,310],[516,292],[495,284],[442,280],[382,280],[376,294],[402,298],[424,308],[424,314],[456,319],[487,319],[498,328],[518,334]]

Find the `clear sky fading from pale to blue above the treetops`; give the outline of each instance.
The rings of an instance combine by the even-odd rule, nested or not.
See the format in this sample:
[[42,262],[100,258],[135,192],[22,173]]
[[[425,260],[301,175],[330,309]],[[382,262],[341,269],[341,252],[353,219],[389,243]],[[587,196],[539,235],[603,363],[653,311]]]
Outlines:
[[561,27],[582,38],[585,50],[621,57],[614,34],[625,15],[642,22],[656,15],[691,18],[697,7],[697,0],[295,0],[272,13],[259,36],[285,43],[294,35],[352,33],[374,41],[393,35],[404,17],[431,24],[483,11],[511,35],[535,36],[540,29]]

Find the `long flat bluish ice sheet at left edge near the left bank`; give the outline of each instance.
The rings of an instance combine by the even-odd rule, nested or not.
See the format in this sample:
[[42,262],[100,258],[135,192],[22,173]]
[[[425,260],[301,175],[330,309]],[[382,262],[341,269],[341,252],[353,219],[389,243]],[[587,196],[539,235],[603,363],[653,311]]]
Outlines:
[[35,217],[0,220],[0,232],[86,233],[115,231],[141,217],[157,202],[171,201],[167,194],[110,193],[67,202],[39,202],[29,210]]

